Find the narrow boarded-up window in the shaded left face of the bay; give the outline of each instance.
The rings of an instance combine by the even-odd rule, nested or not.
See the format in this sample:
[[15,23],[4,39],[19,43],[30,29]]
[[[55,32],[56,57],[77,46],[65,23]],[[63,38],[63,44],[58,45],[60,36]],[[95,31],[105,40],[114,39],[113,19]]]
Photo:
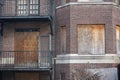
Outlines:
[[61,52],[66,52],[66,27],[61,27]]

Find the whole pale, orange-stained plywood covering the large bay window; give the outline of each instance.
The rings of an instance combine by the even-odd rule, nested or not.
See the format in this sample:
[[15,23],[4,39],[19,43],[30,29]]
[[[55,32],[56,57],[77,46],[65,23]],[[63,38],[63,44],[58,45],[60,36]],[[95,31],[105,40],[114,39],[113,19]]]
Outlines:
[[104,25],[78,25],[78,53],[105,53]]

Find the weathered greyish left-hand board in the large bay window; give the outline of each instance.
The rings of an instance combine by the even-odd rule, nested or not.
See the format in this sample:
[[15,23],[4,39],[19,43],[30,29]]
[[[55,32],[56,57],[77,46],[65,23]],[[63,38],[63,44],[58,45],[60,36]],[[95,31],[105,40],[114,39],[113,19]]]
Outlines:
[[78,26],[78,52],[81,54],[91,53],[92,28],[89,26],[90,25]]

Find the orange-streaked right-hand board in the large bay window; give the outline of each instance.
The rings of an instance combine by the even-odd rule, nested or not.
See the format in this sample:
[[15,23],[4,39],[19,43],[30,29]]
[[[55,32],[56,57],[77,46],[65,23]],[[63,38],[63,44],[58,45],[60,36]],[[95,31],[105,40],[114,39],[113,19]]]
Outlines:
[[104,39],[104,26],[92,25],[92,53],[104,54],[105,53],[105,39]]

